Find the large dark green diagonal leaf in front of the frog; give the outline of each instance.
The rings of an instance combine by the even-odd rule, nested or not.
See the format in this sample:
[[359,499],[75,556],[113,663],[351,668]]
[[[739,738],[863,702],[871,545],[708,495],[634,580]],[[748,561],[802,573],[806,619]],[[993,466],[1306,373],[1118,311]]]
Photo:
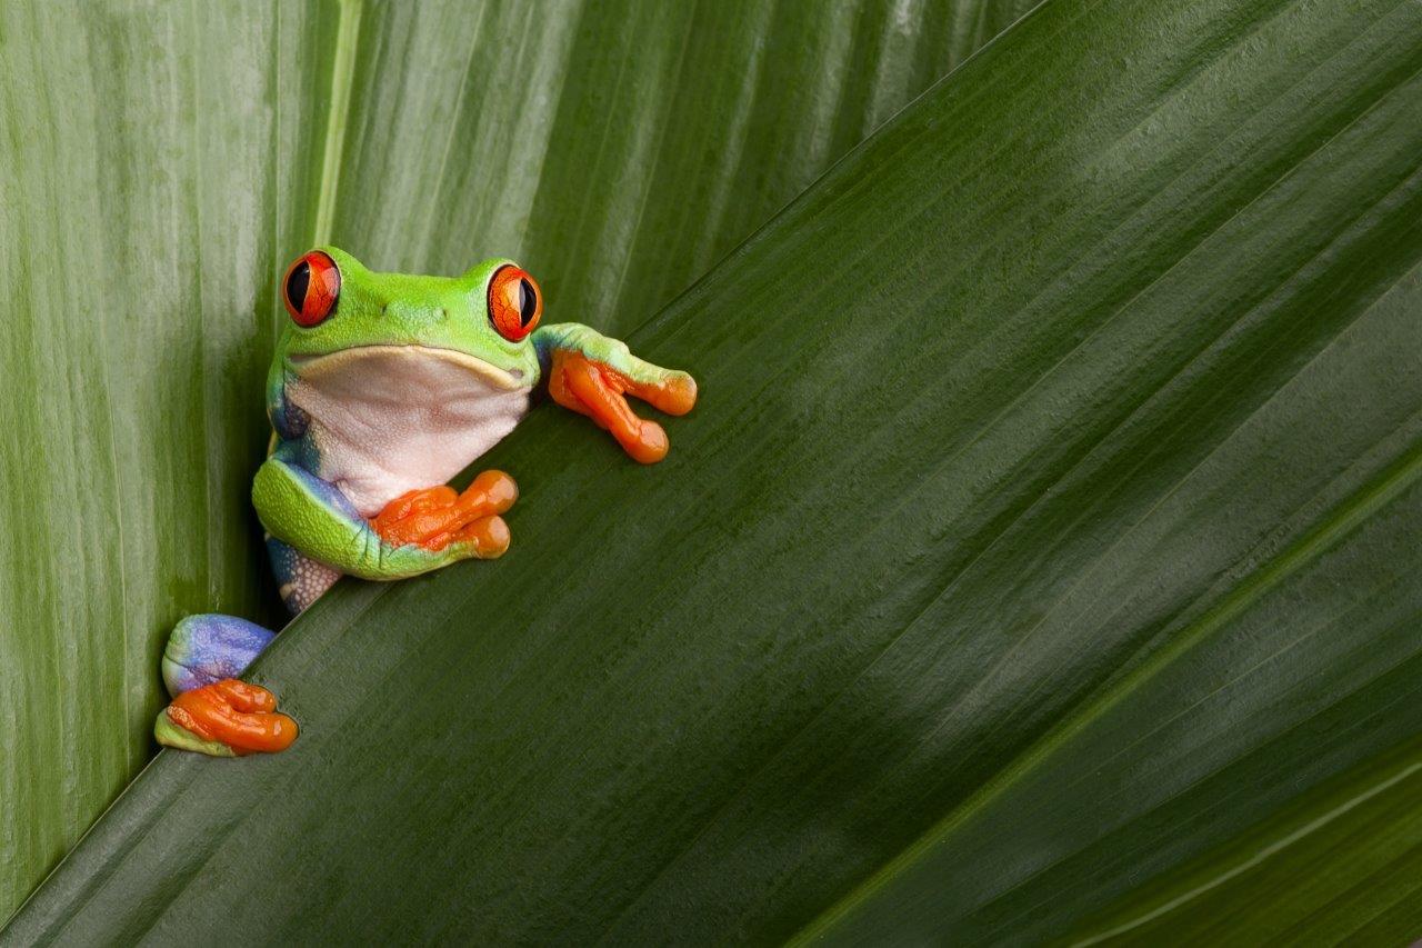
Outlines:
[[508,557],[340,585],[299,744],[161,754],[11,937],[1415,934],[1419,71],[1038,9],[636,335],[665,463],[538,411]]

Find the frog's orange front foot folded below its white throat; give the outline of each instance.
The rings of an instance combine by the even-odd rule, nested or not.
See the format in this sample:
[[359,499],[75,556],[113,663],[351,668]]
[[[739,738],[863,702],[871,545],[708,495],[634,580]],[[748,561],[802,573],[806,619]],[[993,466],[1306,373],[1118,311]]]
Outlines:
[[519,498],[518,484],[503,471],[483,471],[455,493],[452,487],[408,491],[385,504],[371,528],[391,547],[418,545],[431,552],[451,544],[492,559],[509,548],[509,527],[499,514]]

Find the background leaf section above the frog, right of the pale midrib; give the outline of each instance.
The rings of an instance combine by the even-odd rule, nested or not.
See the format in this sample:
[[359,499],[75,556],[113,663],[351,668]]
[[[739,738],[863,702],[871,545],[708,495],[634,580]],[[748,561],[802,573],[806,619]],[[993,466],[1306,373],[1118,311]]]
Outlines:
[[627,332],[1032,6],[381,4],[336,242],[452,273],[516,249],[559,319]]

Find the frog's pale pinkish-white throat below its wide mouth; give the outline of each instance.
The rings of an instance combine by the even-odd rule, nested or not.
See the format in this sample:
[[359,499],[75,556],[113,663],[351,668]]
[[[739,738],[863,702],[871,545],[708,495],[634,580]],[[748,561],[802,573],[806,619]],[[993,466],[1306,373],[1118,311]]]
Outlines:
[[287,399],[306,413],[317,475],[365,517],[444,484],[513,430],[532,380],[425,346],[360,346],[296,360]]

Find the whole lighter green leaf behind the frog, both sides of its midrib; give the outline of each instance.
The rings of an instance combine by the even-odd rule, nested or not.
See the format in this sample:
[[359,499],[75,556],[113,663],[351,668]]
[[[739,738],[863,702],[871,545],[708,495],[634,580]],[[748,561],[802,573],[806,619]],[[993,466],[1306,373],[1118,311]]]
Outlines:
[[280,621],[287,259],[513,255],[627,329],[1027,6],[0,7],[0,917],[148,756],[172,623]]

